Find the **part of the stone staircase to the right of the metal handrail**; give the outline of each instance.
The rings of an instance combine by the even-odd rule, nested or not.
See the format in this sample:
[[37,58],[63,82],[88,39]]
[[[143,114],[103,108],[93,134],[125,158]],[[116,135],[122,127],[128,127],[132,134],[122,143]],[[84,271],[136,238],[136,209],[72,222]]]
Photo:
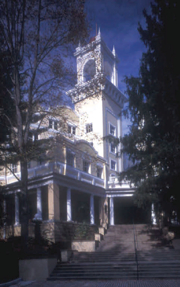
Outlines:
[[162,245],[157,228],[135,226],[138,278],[180,278],[180,246]]

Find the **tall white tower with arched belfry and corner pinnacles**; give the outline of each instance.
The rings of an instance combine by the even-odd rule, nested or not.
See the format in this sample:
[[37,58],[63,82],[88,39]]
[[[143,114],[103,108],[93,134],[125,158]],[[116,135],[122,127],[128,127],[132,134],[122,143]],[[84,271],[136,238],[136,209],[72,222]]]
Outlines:
[[113,47],[109,50],[98,35],[85,47],[79,46],[74,53],[77,60],[77,85],[69,91],[74,98],[75,110],[80,114],[79,136],[91,141],[98,154],[108,164],[108,174],[115,176],[123,170],[123,161],[116,157],[119,146],[103,141],[111,135],[118,138],[122,135],[121,112],[126,96],[117,88],[118,57]]

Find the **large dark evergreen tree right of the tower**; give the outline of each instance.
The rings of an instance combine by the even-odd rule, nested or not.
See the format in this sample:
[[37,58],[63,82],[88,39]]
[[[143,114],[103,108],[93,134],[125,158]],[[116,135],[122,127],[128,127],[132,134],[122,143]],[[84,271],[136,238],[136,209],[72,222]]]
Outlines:
[[[179,3],[155,0],[151,14],[143,11],[146,29],[138,31],[147,51],[138,77],[126,77],[129,96],[130,132],[121,138],[134,166],[120,178],[134,183],[140,206],[147,201],[168,216],[179,215],[180,196],[180,25]],[[124,111],[127,115],[127,110]]]

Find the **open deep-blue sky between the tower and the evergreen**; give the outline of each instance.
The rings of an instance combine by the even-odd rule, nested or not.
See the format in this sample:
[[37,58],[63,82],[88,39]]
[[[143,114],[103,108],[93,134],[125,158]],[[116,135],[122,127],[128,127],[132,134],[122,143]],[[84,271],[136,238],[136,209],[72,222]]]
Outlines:
[[[138,22],[145,28],[143,9],[151,11],[152,0],[86,0],[86,12],[92,27],[91,36],[100,27],[102,38],[112,50],[113,45],[119,58],[118,88],[125,92],[122,83],[125,75],[137,76],[139,60],[145,46],[139,38]],[[127,132],[127,120],[123,120],[123,133]]]

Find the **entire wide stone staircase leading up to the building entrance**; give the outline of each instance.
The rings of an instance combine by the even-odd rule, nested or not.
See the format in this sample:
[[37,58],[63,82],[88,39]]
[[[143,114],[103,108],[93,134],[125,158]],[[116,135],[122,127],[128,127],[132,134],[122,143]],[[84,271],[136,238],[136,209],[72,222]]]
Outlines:
[[[134,246],[135,237],[135,246]],[[48,280],[180,278],[180,249],[162,247],[157,228],[145,224],[109,227],[95,252],[73,252]]]

